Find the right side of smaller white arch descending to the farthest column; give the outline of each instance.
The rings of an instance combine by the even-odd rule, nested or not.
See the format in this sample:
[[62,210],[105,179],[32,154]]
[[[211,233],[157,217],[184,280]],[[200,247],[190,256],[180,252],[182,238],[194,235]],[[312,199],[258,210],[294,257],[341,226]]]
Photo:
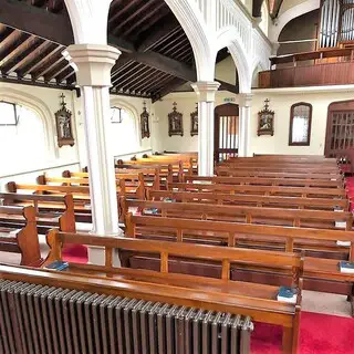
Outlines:
[[217,52],[227,46],[233,59],[239,75],[240,93],[248,93],[251,90],[252,72],[249,66],[246,50],[243,49],[239,34],[235,27],[227,27],[217,33]]

